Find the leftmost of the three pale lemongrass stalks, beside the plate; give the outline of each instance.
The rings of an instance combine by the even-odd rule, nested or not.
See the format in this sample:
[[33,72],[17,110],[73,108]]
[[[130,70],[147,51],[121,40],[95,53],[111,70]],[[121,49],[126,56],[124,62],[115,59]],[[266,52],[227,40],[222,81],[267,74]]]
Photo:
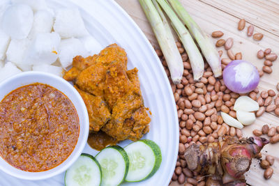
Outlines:
[[165,56],[172,82],[179,84],[183,75],[183,61],[167,19],[161,10],[159,15],[151,0],[139,1]]

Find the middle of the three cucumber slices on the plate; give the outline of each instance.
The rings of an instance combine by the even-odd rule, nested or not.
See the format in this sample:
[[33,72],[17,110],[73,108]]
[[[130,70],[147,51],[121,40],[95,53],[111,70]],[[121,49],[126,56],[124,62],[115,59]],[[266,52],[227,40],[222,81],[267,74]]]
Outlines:
[[126,178],[129,158],[121,146],[109,146],[96,155],[103,177],[101,185],[119,185]]

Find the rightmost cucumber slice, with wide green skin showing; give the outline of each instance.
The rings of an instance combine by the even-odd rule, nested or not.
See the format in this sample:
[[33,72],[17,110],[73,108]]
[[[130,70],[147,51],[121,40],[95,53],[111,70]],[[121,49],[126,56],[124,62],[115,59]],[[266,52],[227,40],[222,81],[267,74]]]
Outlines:
[[124,148],[130,160],[127,182],[139,182],[153,176],[162,162],[160,147],[151,140],[143,139]]

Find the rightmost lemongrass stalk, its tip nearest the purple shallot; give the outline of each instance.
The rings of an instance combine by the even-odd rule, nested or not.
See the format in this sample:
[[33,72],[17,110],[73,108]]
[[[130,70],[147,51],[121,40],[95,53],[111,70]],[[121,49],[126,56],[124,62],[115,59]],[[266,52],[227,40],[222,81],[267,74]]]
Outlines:
[[202,54],[204,54],[207,63],[209,63],[211,66],[214,76],[219,77],[222,75],[220,56],[209,36],[199,28],[193,18],[190,17],[186,9],[183,8],[179,0],[169,0],[169,3],[172,5],[172,8],[174,8],[181,20],[183,20],[183,22],[186,24],[190,33],[192,33],[195,40],[199,44],[199,47],[202,49]]

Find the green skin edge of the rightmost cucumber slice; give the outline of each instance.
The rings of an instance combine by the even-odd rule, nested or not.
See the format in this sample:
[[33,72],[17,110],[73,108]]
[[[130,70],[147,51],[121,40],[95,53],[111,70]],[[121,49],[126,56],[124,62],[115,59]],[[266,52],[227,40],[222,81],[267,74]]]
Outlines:
[[[139,141],[148,145],[151,148],[151,150],[153,151],[154,156],[156,157],[151,173],[149,173],[148,176],[146,176],[145,178],[142,179],[142,180],[146,180],[148,178],[151,178],[158,171],[158,169],[160,168],[160,165],[161,165],[161,162],[162,162],[162,153],[161,153],[160,147],[154,141],[151,141],[150,139],[141,139]],[[138,141],[135,141],[135,142],[138,142]],[[135,143],[135,142],[133,142],[133,143]],[[130,144],[128,144],[128,146],[129,145]],[[137,181],[125,180],[125,181],[128,182],[128,183],[135,183],[135,182],[140,182],[142,180],[137,180]]]

